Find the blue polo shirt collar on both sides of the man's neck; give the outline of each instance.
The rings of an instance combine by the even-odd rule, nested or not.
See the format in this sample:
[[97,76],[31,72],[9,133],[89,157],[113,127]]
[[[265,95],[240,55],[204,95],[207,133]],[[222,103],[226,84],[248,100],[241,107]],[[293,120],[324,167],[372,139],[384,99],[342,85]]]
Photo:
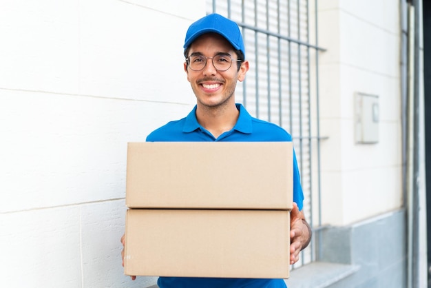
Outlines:
[[[198,123],[198,119],[196,119],[196,107],[197,105],[195,105],[193,110],[191,110],[189,115],[187,115],[184,127],[182,127],[182,132],[190,133],[202,127]],[[238,117],[238,121],[233,127],[233,130],[237,130],[244,134],[250,134],[252,132],[251,115],[242,104],[237,103],[236,108],[240,111],[240,116]]]

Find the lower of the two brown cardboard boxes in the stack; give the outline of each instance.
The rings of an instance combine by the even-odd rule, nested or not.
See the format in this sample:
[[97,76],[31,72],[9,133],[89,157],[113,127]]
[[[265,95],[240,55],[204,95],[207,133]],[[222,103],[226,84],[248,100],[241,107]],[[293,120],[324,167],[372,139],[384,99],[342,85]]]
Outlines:
[[125,274],[288,278],[287,210],[129,209]]

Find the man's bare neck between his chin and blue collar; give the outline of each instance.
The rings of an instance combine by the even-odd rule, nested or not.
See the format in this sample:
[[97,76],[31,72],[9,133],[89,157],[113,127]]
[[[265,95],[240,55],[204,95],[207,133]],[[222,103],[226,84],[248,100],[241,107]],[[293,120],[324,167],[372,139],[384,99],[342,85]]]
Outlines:
[[223,107],[208,107],[198,103],[196,108],[196,119],[215,138],[230,131],[238,121],[238,116],[240,116],[240,112],[235,103]]

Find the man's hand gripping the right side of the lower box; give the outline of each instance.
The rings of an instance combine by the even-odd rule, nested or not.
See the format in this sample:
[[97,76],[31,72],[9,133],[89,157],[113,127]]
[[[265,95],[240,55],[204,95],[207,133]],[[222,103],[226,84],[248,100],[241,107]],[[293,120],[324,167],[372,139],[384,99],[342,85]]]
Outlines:
[[311,239],[311,229],[308,229],[304,213],[293,203],[291,211],[291,265],[299,260],[299,252],[307,247]]

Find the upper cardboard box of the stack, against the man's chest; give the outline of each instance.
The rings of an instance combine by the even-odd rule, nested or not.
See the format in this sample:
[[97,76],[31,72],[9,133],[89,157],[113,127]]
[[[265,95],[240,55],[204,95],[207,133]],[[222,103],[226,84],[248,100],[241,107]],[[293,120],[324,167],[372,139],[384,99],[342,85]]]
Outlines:
[[292,143],[129,143],[126,205],[292,209]]

